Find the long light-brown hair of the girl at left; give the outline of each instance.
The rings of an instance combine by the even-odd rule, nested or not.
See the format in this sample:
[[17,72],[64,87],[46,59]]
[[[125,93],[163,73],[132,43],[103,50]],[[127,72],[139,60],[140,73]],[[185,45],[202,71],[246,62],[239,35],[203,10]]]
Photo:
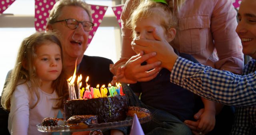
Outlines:
[[[57,35],[53,32],[36,32],[22,41],[18,51],[15,67],[11,71],[6,87],[3,90],[1,104],[4,109],[10,111],[12,93],[17,85],[26,83],[27,81],[31,82],[31,87],[29,87],[30,94],[34,92],[37,97],[36,103],[32,105],[31,108],[34,108],[37,105],[40,96],[36,88],[40,86],[40,81],[36,75],[36,68],[34,66],[34,60],[36,58],[35,52],[38,46],[49,42],[57,44],[60,47],[60,52],[62,51],[60,40],[58,40]],[[20,80],[24,81],[19,82],[18,84],[18,81]],[[64,78],[63,73],[61,73],[60,76],[52,83],[52,87],[56,89],[56,93],[59,97],[57,99],[58,103],[56,108],[61,108],[63,106],[64,99],[68,97],[68,92],[63,89],[63,85]]]

